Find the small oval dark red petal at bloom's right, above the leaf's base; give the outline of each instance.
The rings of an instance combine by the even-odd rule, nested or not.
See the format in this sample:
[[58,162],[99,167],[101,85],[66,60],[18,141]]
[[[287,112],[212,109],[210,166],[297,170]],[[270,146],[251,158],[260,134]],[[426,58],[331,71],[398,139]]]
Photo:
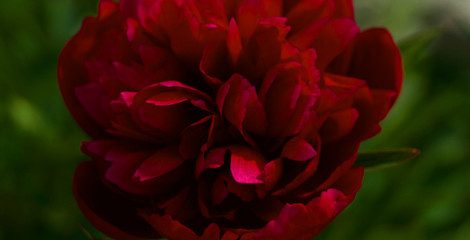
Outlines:
[[332,113],[320,129],[322,140],[327,143],[346,136],[358,118],[359,113],[355,108]]

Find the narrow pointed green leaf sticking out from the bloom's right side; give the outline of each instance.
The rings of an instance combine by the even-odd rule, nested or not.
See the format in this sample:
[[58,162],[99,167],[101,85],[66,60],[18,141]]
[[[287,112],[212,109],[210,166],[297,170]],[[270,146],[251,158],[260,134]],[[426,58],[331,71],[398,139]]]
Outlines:
[[366,170],[376,170],[402,164],[418,156],[416,148],[399,148],[359,153],[355,167],[363,166]]

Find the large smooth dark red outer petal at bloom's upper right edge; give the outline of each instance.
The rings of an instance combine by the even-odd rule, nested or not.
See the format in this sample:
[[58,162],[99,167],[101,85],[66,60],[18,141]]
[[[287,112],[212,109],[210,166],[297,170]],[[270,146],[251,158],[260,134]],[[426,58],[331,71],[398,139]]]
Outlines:
[[360,33],[327,71],[364,79],[371,88],[394,90],[397,94],[403,82],[400,52],[390,33],[382,28]]

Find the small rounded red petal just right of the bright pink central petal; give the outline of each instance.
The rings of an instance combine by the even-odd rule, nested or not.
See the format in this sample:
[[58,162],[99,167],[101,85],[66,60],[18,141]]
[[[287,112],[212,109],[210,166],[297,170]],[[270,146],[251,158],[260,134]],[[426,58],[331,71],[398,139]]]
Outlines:
[[305,139],[296,136],[284,145],[281,155],[294,161],[307,161],[315,157],[317,152]]

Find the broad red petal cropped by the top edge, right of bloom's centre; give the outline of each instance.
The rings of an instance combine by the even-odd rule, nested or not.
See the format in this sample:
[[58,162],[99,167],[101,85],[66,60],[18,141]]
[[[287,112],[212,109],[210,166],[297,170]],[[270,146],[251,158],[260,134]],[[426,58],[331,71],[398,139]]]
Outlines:
[[302,0],[286,14],[287,24],[292,26],[290,34],[295,34],[312,23],[330,18],[334,11],[332,0]]

